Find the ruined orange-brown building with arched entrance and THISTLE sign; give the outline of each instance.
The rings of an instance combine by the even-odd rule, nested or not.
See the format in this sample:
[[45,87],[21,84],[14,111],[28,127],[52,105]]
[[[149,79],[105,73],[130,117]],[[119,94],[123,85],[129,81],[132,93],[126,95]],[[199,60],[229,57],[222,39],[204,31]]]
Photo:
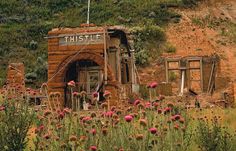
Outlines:
[[[60,92],[61,103],[68,103],[67,83],[75,81],[74,91],[108,90],[113,103],[120,91],[137,83],[133,51],[127,31],[120,26],[55,28],[48,33],[48,88]],[[122,89],[123,88],[123,89]]]

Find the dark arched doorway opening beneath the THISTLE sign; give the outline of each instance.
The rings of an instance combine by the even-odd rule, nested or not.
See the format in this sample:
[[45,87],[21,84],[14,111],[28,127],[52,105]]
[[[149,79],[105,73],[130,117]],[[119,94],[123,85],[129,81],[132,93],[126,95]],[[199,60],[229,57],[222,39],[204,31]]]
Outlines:
[[[85,91],[88,99],[92,99],[92,93],[102,87],[102,68],[92,60],[79,60],[72,63],[65,75],[65,82],[73,80],[76,86],[73,92]],[[65,105],[71,107],[71,90],[65,86]]]

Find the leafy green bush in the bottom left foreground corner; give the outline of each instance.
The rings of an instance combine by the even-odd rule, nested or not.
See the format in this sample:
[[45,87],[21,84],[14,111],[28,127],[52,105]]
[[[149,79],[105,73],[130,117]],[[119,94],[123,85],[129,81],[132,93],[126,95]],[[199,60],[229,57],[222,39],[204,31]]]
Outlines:
[[0,148],[3,151],[23,151],[34,114],[27,105],[7,100],[0,111]]

